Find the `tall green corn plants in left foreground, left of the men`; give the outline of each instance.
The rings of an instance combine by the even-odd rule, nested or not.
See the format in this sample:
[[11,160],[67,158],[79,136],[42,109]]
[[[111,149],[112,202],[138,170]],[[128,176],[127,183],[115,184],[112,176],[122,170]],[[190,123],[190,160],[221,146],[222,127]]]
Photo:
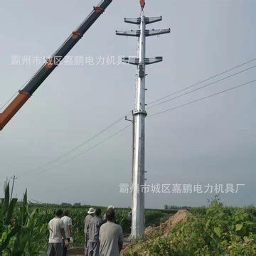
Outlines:
[[4,189],[4,195],[0,205],[0,255],[40,255],[41,245],[38,241],[46,226],[38,228],[38,210],[30,210],[27,192],[20,206],[16,198],[10,199],[9,183]]

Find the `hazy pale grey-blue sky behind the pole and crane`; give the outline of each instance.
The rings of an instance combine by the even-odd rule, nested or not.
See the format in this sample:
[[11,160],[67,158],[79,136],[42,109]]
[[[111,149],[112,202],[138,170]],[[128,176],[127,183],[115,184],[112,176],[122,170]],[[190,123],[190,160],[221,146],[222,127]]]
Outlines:
[[[38,59],[53,54],[97,4],[97,0],[1,1],[0,106],[41,67]],[[254,0],[147,0],[145,15],[163,16],[163,21],[148,27],[171,28],[171,33],[147,38],[147,57],[163,56],[164,61],[146,67],[146,101],[255,58],[255,8]],[[134,108],[136,67],[119,63],[119,58],[136,55],[137,41],[116,36],[115,31],[136,29],[124,23],[124,17],[139,14],[138,0],[113,0],[68,54],[73,61],[83,58],[85,65],[67,61],[56,68],[0,133],[1,186],[16,175],[18,198],[27,188],[28,198],[42,203],[130,205],[131,194],[120,193],[124,186],[120,184],[131,181],[132,127],[112,137],[129,122],[122,118],[87,140]],[[194,88],[254,65],[256,60]],[[204,193],[207,184],[213,188],[223,184],[225,189],[227,183],[244,186],[238,193],[220,193],[223,203],[256,204],[255,82],[150,117],[255,79],[251,68],[148,110],[146,183],[155,188],[170,184],[171,189],[175,184],[180,188],[197,184],[203,193],[149,191],[147,208],[205,205],[215,195]],[[189,90],[193,88],[184,92]],[[63,159],[46,165],[63,154]]]

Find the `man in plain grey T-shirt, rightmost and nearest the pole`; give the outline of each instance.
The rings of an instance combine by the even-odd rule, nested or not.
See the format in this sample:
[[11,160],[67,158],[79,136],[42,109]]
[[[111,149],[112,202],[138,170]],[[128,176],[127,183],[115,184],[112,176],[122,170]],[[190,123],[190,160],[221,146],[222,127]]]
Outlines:
[[122,227],[114,223],[114,209],[107,210],[107,223],[100,227],[100,256],[119,256],[124,235]]

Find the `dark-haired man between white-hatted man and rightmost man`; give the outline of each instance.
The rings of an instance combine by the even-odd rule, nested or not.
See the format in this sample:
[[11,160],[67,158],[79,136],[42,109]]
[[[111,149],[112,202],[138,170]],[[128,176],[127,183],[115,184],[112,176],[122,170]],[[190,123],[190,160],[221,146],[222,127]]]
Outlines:
[[88,255],[99,256],[100,250],[100,225],[102,224],[102,218],[100,208],[95,210],[95,216],[90,219],[89,223],[89,238],[88,238]]

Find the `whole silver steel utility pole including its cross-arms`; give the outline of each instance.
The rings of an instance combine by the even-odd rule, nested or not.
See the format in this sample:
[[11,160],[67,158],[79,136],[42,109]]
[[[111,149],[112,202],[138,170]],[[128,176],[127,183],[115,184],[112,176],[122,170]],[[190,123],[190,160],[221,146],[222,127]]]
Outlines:
[[169,29],[146,29],[146,25],[161,21],[162,17],[149,18],[144,16],[144,0],[140,0],[142,15],[139,18],[124,18],[124,22],[139,25],[139,30],[116,31],[119,36],[135,36],[139,38],[137,58],[123,58],[124,63],[137,65],[136,102],[134,109],[134,155],[132,177],[132,239],[144,236],[144,183],[145,183],[145,66],[158,63],[162,57],[146,58],[146,37],[170,33]]

